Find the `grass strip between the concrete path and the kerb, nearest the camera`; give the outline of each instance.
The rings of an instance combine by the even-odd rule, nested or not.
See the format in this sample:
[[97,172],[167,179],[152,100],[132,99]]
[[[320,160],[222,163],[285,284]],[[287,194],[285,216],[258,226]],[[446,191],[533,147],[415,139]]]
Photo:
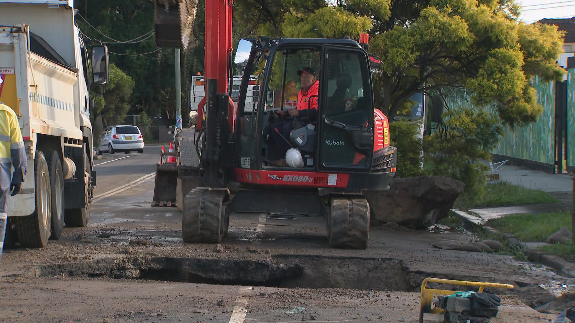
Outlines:
[[571,228],[569,212],[518,214],[489,220],[486,223],[503,233],[513,235],[523,242],[539,242],[547,240],[562,226]]

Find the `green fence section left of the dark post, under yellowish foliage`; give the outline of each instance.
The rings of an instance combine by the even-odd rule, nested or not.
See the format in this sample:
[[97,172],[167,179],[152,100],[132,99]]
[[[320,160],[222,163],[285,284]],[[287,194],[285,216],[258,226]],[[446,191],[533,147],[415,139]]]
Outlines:
[[498,155],[554,163],[554,130],[555,130],[555,83],[534,79],[533,86],[537,91],[543,113],[536,122],[515,130],[505,128],[505,136],[499,146],[492,151]]

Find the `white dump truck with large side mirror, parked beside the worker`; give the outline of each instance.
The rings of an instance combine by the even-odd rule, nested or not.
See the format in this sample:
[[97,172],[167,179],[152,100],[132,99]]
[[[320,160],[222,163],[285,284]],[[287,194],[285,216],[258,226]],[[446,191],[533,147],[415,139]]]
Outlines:
[[[0,101],[20,122],[28,172],[8,199],[7,236],[44,247],[85,226],[96,183],[90,83],[108,82],[108,49],[88,48],[73,0],[0,1]],[[7,243],[10,243],[7,241]]]

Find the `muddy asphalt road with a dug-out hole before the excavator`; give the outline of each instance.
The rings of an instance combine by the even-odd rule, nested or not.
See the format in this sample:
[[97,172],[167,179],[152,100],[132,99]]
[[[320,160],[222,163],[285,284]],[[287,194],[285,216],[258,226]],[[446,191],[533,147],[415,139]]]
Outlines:
[[[181,213],[150,206],[159,150],[104,153],[90,223],[5,253],[0,322],[417,322],[427,276],[514,284],[493,322],[537,322],[550,316],[520,300],[575,286],[511,256],[431,246],[473,239],[465,232],[372,228],[366,250],[333,249],[320,216],[232,214],[221,245],[185,244]],[[297,279],[266,278],[298,266]]]

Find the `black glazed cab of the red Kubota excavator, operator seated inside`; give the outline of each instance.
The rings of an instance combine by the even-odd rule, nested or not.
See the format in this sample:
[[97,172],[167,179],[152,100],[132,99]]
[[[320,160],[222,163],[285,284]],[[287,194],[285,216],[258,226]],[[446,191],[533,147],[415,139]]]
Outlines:
[[[358,43],[279,39],[266,47],[260,41],[242,40],[237,53],[244,75],[262,76],[260,93],[267,94],[259,95],[255,109],[240,97],[240,164],[258,170],[369,172],[374,107],[369,61]],[[252,60],[246,58],[250,53]],[[306,70],[315,83],[302,89],[300,78],[309,74]],[[291,116],[290,109],[297,115]],[[275,162],[281,159],[286,163]]]

